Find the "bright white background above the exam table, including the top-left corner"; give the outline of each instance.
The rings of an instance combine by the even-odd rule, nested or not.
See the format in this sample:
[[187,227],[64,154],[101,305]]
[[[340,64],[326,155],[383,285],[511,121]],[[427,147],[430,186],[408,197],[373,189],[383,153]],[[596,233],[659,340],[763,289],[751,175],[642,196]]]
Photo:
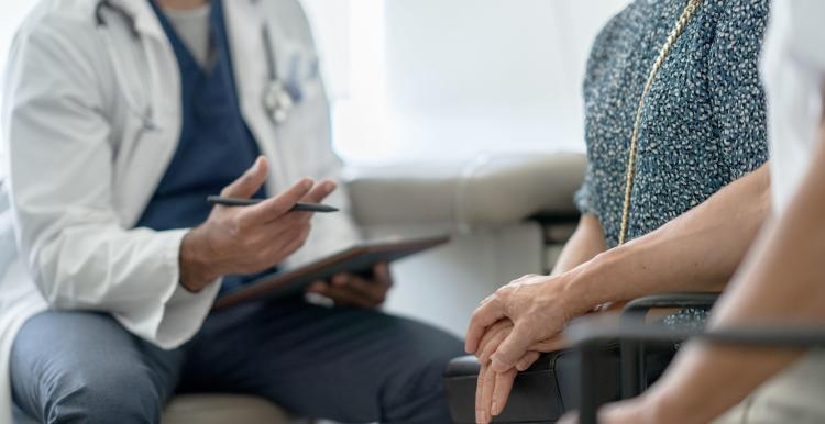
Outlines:
[[[0,2],[0,68],[34,0]],[[580,82],[627,0],[302,0],[352,164],[583,150]]]

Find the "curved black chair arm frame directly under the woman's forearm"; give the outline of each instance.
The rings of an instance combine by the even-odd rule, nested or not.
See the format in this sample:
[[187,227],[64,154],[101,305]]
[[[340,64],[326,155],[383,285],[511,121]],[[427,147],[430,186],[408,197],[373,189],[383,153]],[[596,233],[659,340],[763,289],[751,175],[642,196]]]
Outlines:
[[[622,320],[644,322],[647,313],[657,308],[711,309],[719,294],[717,292],[685,292],[647,295],[630,301],[622,311]],[[644,346],[625,341],[622,343],[622,398],[635,398],[645,389],[647,389],[647,367]]]

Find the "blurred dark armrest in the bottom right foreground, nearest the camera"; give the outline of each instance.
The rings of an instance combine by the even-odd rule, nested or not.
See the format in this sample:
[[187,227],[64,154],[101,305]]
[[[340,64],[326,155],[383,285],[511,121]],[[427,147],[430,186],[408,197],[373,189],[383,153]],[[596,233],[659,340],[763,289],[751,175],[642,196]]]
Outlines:
[[825,326],[780,325],[777,323],[704,332],[695,328],[645,325],[638,322],[600,323],[581,320],[568,327],[566,336],[582,355],[582,403],[580,424],[596,424],[598,400],[593,395],[600,373],[600,356],[609,341],[679,342],[700,338],[710,343],[778,348],[825,347]]

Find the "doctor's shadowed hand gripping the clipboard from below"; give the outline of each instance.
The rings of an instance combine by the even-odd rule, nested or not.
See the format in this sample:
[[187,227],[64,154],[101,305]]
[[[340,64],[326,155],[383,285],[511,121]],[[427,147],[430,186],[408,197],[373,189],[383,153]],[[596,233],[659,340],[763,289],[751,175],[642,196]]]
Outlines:
[[331,282],[316,281],[307,292],[329,298],[338,306],[375,309],[384,304],[392,288],[389,266],[378,264],[373,268],[370,279],[352,274],[339,274]]

